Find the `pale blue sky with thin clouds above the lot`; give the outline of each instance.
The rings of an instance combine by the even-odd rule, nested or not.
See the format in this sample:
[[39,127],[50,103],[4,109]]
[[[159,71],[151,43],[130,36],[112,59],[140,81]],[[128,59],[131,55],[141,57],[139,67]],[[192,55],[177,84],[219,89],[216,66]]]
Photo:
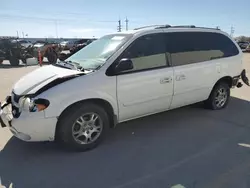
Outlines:
[[145,25],[219,26],[250,36],[250,0],[0,0],[0,36],[81,38]]

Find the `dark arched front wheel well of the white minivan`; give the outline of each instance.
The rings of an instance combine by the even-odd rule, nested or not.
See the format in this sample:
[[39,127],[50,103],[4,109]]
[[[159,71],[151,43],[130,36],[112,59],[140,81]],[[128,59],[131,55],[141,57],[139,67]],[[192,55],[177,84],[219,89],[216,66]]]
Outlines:
[[110,127],[111,128],[115,127],[116,122],[117,122],[117,117],[114,114],[114,109],[113,109],[112,105],[108,101],[103,100],[103,99],[98,99],[98,98],[87,99],[87,100],[82,100],[82,101],[75,102],[75,103],[69,105],[67,108],[65,108],[63,110],[63,112],[58,117],[58,121],[57,121],[57,124],[56,124],[56,134],[55,134],[55,137],[57,137],[57,130],[58,130],[58,124],[59,124],[60,118],[65,113],[67,113],[70,109],[72,109],[73,107],[75,107],[75,106],[81,106],[84,103],[94,103],[96,105],[99,105],[99,106],[103,107],[105,109],[105,111],[108,113]]

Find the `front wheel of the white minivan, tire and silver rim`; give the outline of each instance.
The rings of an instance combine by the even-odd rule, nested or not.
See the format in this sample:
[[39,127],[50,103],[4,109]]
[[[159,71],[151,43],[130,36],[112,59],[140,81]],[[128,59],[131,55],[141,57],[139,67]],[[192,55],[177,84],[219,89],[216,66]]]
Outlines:
[[[95,121],[96,127],[99,126],[101,128],[93,128],[93,124],[95,123],[91,123],[91,121],[89,121],[90,116],[93,114],[95,117],[98,117]],[[85,125],[76,123],[77,121],[83,123],[83,119],[80,117],[85,119]],[[102,107],[93,103],[79,103],[67,110],[64,114],[62,114],[62,117],[60,117],[57,125],[56,141],[59,141],[59,144],[61,144],[64,148],[73,151],[87,151],[95,148],[102,141],[108,128],[108,114]],[[95,132],[95,130],[98,130],[99,133]],[[93,141],[87,139],[87,137],[83,134],[91,135],[91,137],[93,136]]]

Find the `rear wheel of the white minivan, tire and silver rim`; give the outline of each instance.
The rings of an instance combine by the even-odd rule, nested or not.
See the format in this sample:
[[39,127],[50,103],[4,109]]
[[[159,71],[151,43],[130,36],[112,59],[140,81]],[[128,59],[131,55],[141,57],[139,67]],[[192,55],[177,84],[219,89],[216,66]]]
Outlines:
[[[221,95],[219,95],[221,93]],[[230,87],[225,82],[219,82],[213,88],[208,100],[205,101],[205,107],[212,110],[221,110],[225,108],[230,100]]]

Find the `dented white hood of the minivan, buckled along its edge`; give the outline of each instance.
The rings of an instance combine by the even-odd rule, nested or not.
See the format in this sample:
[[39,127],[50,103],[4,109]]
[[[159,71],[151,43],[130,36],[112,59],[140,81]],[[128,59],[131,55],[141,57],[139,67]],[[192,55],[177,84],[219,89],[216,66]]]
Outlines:
[[17,95],[34,94],[37,90],[55,79],[84,74],[77,70],[56,67],[53,65],[38,68],[23,76],[13,87]]

